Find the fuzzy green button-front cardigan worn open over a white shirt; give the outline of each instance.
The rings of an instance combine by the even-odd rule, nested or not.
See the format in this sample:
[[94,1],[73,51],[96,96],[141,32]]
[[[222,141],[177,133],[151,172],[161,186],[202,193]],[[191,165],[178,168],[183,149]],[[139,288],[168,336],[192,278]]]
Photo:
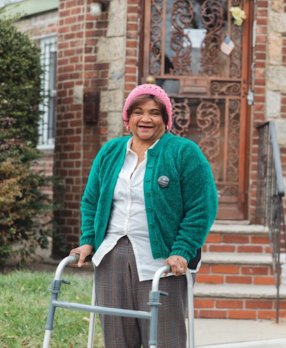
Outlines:
[[[109,141],[98,153],[81,201],[81,245],[95,251],[109,223],[113,191],[125,160],[129,136]],[[167,187],[158,179],[165,175]],[[180,255],[187,262],[205,243],[217,211],[217,194],[209,163],[198,146],[184,138],[164,134],[148,150],[144,176],[145,209],[152,255]]]

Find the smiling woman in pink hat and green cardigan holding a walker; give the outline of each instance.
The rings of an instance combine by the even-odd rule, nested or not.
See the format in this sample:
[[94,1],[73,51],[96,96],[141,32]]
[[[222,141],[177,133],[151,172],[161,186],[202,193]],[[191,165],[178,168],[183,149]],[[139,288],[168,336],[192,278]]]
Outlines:
[[[159,289],[158,347],[186,347],[186,272],[204,244],[217,210],[211,168],[198,146],[168,131],[172,106],[159,86],[144,84],[127,97],[123,120],[132,136],[100,150],[81,203],[78,264],[95,251],[99,306],[149,310],[152,278],[170,264]],[[180,277],[175,277],[180,276]],[[194,277],[193,277],[194,278]],[[150,322],[101,315],[105,348],[148,347]]]

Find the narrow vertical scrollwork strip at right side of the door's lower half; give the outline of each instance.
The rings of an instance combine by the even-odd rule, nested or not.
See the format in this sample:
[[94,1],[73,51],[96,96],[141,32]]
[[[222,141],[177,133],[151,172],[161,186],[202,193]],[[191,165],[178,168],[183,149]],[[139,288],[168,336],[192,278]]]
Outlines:
[[238,182],[239,167],[239,116],[240,100],[230,100],[228,112],[228,161],[226,179],[228,182]]

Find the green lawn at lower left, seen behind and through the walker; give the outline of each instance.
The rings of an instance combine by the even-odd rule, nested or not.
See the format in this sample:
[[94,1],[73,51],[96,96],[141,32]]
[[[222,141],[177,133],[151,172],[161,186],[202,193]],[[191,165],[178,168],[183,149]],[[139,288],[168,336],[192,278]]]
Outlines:
[[[0,347],[42,348],[54,274],[13,271],[0,274]],[[63,274],[58,299],[90,304],[93,279]],[[89,313],[56,308],[50,348],[84,348],[88,341]],[[95,328],[95,348],[104,347],[100,323]]]

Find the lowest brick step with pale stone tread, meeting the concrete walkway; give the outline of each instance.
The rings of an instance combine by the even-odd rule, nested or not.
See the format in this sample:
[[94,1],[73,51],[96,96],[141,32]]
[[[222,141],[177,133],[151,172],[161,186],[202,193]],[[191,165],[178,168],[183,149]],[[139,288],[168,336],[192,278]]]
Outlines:
[[[194,308],[197,318],[274,319],[276,287],[267,285],[218,285],[196,283]],[[286,288],[280,287],[279,317],[286,317]]]

